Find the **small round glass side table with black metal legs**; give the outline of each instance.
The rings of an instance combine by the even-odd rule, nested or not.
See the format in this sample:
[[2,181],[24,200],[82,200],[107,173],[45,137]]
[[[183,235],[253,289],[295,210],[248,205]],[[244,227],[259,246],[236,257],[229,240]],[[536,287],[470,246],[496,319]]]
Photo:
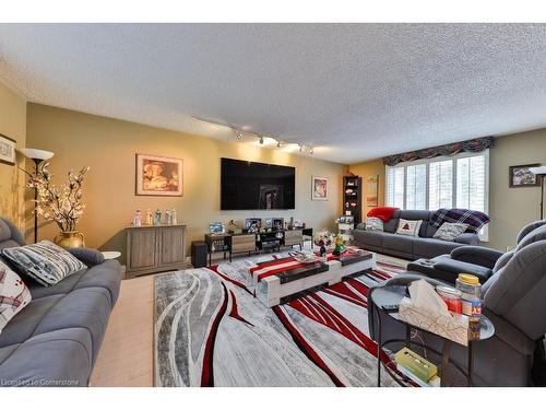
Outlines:
[[[482,340],[489,339],[495,335],[495,326],[492,325],[491,320],[489,320],[486,316],[482,315],[482,319],[479,320],[479,326],[476,326],[476,328],[472,328],[473,330],[472,332],[468,331],[468,345],[466,347],[466,355],[467,355],[466,368],[462,368],[460,365],[455,364],[453,361],[450,360],[450,351],[453,343],[455,343],[454,341],[446,339],[439,335],[432,333],[428,330],[422,329],[417,326],[401,320],[397,312],[387,313],[381,308],[381,306],[384,305],[399,305],[402,298],[406,296],[406,289],[407,286],[405,285],[384,286],[384,288],[377,288],[371,293],[371,303],[376,305],[375,317],[378,324],[378,340],[379,340],[378,353],[377,353],[378,387],[381,386],[381,367],[383,367],[385,372],[389,373],[392,376],[392,378],[401,386],[404,386],[402,380],[405,380],[406,383],[410,382],[407,377],[399,374],[396,371],[392,368],[392,366],[389,366],[389,364],[392,365],[392,362],[385,363],[384,355],[381,354],[383,352],[383,348],[385,347],[388,348],[389,345],[395,345],[395,344],[400,345],[401,343],[408,349],[411,349],[412,345],[422,348],[426,351],[432,352],[435,355],[440,358],[440,364],[439,364],[440,383],[441,383],[440,386],[443,387],[452,385],[452,380],[449,377],[450,372],[448,371],[448,367],[450,365],[455,367],[466,378],[467,386],[472,386],[473,385],[472,373],[474,364],[473,344]],[[381,315],[379,314],[379,311],[387,313],[391,318],[393,318],[396,321],[400,321],[405,326],[405,339],[388,339],[384,341],[382,340]],[[418,330],[420,332],[435,335],[436,337],[441,338],[443,341],[442,351],[439,352],[438,350],[427,347],[425,343],[412,340],[411,337],[412,330]],[[471,328],[468,328],[468,330],[471,330]]]

